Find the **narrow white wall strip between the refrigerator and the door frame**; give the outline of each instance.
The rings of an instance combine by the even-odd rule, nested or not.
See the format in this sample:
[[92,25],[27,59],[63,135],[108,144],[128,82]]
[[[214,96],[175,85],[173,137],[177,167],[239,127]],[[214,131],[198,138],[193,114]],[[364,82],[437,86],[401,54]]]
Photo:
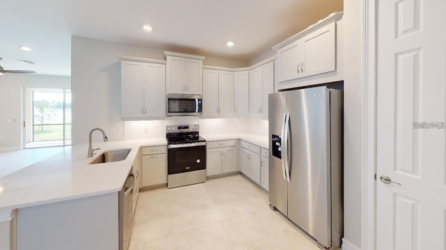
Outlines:
[[361,246],[363,1],[344,0],[344,240]]

